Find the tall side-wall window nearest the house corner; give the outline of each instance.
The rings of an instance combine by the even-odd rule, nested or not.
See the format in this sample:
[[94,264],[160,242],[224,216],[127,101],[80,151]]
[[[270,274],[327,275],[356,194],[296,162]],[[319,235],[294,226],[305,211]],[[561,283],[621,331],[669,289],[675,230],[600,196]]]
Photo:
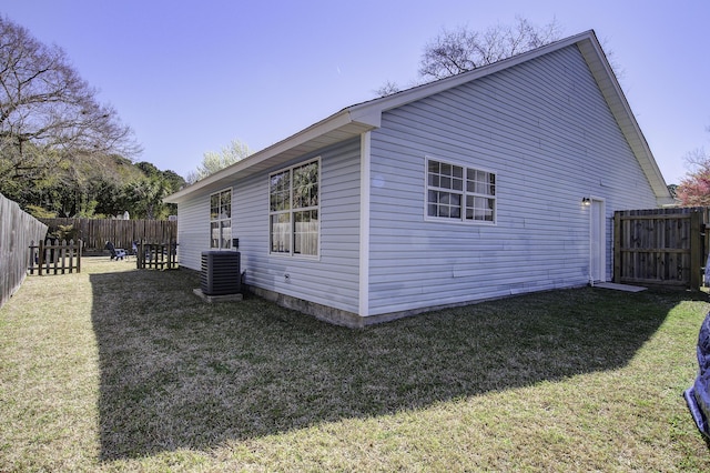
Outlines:
[[318,255],[321,160],[268,177],[272,254]]

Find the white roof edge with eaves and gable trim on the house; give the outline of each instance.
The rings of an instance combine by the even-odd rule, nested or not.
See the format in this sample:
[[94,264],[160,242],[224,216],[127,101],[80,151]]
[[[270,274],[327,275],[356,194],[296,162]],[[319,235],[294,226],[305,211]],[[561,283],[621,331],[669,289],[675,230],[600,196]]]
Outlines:
[[601,46],[594,30],[552,42],[489,66],[474,69],[473,71],[347,107],[285,140],[251,154],[231,167],[169,195],[165,198],[165,202],[179,203],[197,192],[214,192],[231,185],[236,178],[244,178],[255,172],[265,171],[311,151],[356,138],[363,132],[378,128],[382,122],[382,113],[387,110],[462,85],[466,82],[496,73],[572,44],[579,48],[582,57],[587,61],[611,113],[616,118],[621,132],[631,147],[631,151],[646,173],[658,202],[672,203],[672,198],[668,192],[666,181],[661,175],[648,142],[631,112],[631,108],[607,61],[606,54],[601,50]]

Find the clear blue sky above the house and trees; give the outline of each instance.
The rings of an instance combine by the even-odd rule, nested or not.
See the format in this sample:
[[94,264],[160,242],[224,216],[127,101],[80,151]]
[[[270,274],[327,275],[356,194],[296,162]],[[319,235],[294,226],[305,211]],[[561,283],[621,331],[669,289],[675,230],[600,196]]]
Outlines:
[[708,0],[2,0],[0,13],[62,47],[135,131],[139,158],[185,175],[205,151],[253,151],[386,81],[417,77],[442,28],[485,30],[516,16],[562,36],[594,29],[668,183],[710,149]]

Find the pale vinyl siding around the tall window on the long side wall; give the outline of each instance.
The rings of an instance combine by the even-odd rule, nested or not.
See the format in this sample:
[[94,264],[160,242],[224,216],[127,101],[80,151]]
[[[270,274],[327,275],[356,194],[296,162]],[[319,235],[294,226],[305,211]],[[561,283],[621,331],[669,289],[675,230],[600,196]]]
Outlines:
[[[320,258],[268,253],[268,172],[265,172],[237,181],[234,187],[232,232],[240,239],[242,270],[251,285],[357,313],[359,140],[304,155],[291,164],[315,157],[321,157]],[[280,169],[284,167],[270,172]]]

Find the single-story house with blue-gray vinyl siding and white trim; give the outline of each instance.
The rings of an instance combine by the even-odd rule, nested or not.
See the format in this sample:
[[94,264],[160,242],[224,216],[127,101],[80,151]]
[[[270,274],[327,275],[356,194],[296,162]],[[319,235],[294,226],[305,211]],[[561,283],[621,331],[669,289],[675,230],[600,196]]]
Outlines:
[[237,245],[250,290],[364,326],[610,280],[613,211],[672,198],[587,31],[347,107],[165,201],[181,265]]

